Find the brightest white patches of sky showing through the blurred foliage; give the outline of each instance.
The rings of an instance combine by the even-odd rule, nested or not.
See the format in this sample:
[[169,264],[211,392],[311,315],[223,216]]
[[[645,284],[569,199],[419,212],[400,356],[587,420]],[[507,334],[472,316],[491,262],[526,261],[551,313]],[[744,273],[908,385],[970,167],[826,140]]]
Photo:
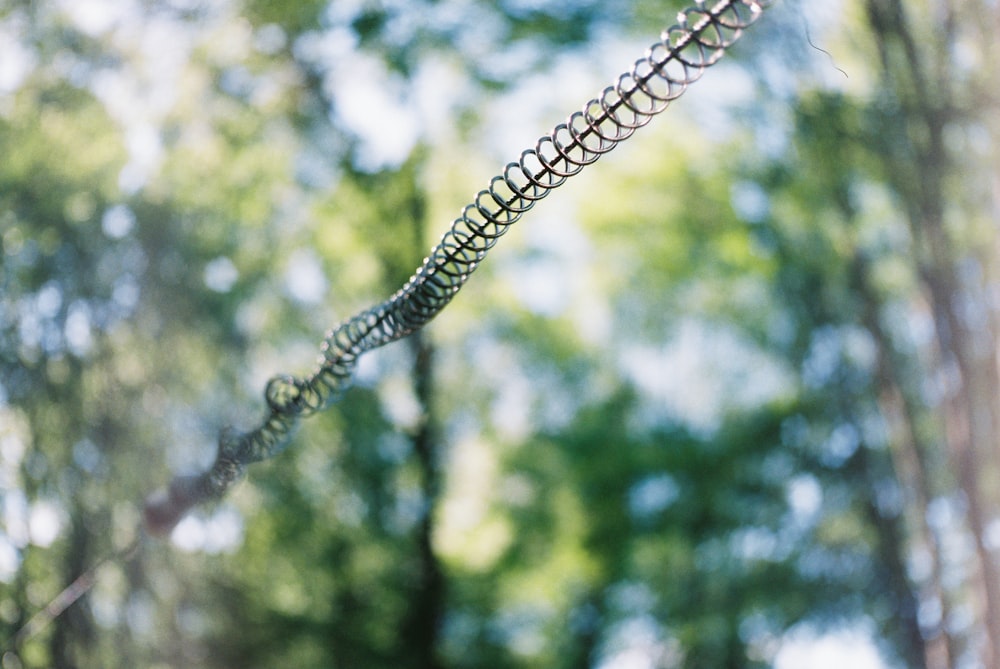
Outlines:
[[[143,43],[152,45],[146,49],[144,57],[149,60],[148,70],[156,72],[156,80],[163,82],[167,88],[130,88],[128,82],[108,79],[103,82],[102,90],[98,91],[109,106],[112,113],[119,118],[127,129],[132,163],[128,173],[123,174],[123,186],[141,187],[150,171],[156,169],[159,155],[158,140],[155,133],[157,117],[169,108],[174,93],[169,89],[173,81],[170,73],[177,72],[182,65],[178,59],[186,57],[185,49],[153,48],[170,42],[176,46],[178,33],[169,26],[146,23],[136,13],[137,5],[131,2],[112,2],[110,0],[67,0],[64,10],[84,32],[91,35],[107,34],[116,25],[128,25],[130,29],[138,28],[132,33],[131,39],[135,45]],[[236,35],[238,31],[234,32]],[[145,33],[145,34],[140,34]],[[121,34],[121,33],[120,33]],[[651,38],[656,35],[651,34]],[[0,35],[0,91],[16,88],[25,74],[32,67],[30,56],[19,49],[17,40],[7,39]],[[238,37],[238,36],[237,36]],[[237,37],[233,39],[238,42]],[[336,86],[341,91],[341,99],[347,104],[341,106],[339,113],[346,125],[350,126],[362,140],[362,160],[372,169],[395,164],[405,159],[410,147],[417,141],[422,131],[435,132],[435,123],[440,124],[447,119],[451,109],[449,100],[455,100],[466,92],[462,81],[456,79],[447,67],[441,63],[429,61],[426,76],[416,78],[417,87],[414,90],[401,90],[397,82],[391,79],[384,66],[374,58],[365,56],[355,50],[350,39],[338,41],[336,35],[330,35],[328,49],[333,49],[337,61],[343,63],[340,67],[331,67],[329,85]],[[620,62],[622,70],[632,59],[641,55],[646,43],[622,43],[612,36],[605,36],[607,43],[595,45],[592,53],[600,53],[608,59]],[[648,41],[648,40],[647,40]],[[238,45],[237,45],[238,46]],[[630,52],[634,49],[634,53]],[[349,66],[347,66],[349,65]],[[598,79],[606,70],[589,67],[590,64],[567,60],[559,67],[552,68],[548,74],[534,75],[522,86],[514,87],[503,100],[496,105],[498,110],[493,119],[496,132],[492,135],[491,144],[497,154],[505,153],[508,157],[516,156],[527,148],[516,143],[517,138],[535,138],[549,131],[560,118],[550,118],[543,121],[549,109],[540,106],[539,99],[551,100],[553,92],[558,97],[575,96],[578,103],[593,96],[607,81]],[[166,73],[167,76],[164,75]],[[718,85],[717,85],[718,88]],[[725,86],[718,90],[726,89]],[[726,89],[726,90],[731,90]],[[752,88],[743,87],[750,94]],[[546,92],[539,95],[539,91]],[[411,101],[416,101],[419,113],[406,113],[405,108]],[[518,114],[507,113],[511,108],[519,109]],[[489,117],[490,112],[487,111]],[[400,119],[406,122],[400,123]],[[498,165],[499,167],[499,165]],[[127,221],[109,221],[108,225],[125,225]],[[544,221],[539,222],[539,225]],[[562,242],[563,236],[557,235]],[[585,245],[579,252],[586,256],[591,250]],[[584,258],[585,259],[585,258]],[[291,294],[304,302],[315,302],[322,297],[326,288],[322,272],[315,271],[313,259],[301,258],[302,262],[290,267],[285,280]],[[551,280],[559,272],[559,267],[539,265],[533,269],[538,274],[533,283],[538,285],[555,285]],[[220,260],[216,265],[206,268],[205,281],[209,287],[223,289],[231,283],[232,265]],[[553,276],[545,276],[546,273]],[[541,300],[535,306],[539,311],[550,308],[549,302],[544,302],[546,295],[536,295]],[[553,298],[558,302],[558,295]],[[550,300],[551,302],[551,300]],[[649,390],[666,400],[673,400],[674,409],[678,414],[686,414],[696,428],[710,429],[713,419],[713,407],[716,409],[722,402],[725,389],[729,387],[720,375],[724,371],[713,365],[718,351],[732,351],[732,359],[754,361],[746,351],[740,350],[744,344],[734,341],[726,333],[706,333],[697,323],[691,323],[681,329],[676,341],[660,351],[634,350],[627,352],[623,358],[626,373],[632,375],[640,385],[650,386]],[[715,350],[705,350],[704,343],[709,341]],[[699,348],[700,346],[700,348]],[[683,364],[677,364],[681,362]],[[669,366],[670,375],[656,373],[656,370]],[[754,387],[765,387],[778,392],[782,383],[780,369],[772,369],[768,365],[755,365],[760,374],[766,378],[761,384],[746,384]],[[739,374],[740,370],[729,370]],[[746,370],[743,370],[744,372]],[[707,372],[707,373],[706,373]],[[665,381],[668,379],[669,381]],[[690,387],[691,380],[701,380],[697,384],[698,392],[694,395],[678,393],[678,388]],[[751,398],[754,401],[759,398]],[[685,401],[688,404],[685,404]],[[749,400],[748,400],[749,401]],[[691,402],[694,402],[691,404]],[[706,409],[705,407],[708,407]],[[6,445],[6,450],[13,448]],[[7,458],[12,460],[12,458]],[[8,462],[9,464],[9,462]],[[17,505],[7,505],[8,514],[17,517],[5,519],[8,528],[22,528],[21,535],[0,535],[0,581],[13,576],[16,571],[15,547],[22,547],[27,542],[40,546],[48,545],[58,535],[61,529],[61,517],[58,510],[44,503],[28,508]],[[20,509],[20,511],[18,511]],[[233,545],[242,540],[241,520],[235,512],[224,510],[216,516],[204,519],[191,518],[176,528],[173,541],[178,548],[186,551],[219,552],[230,550]],[[23,535],[23,536],[22,536]],[[864,625],[846,628],[826,633],[818,633],[808,628],[795,628],[773,643],[774,669],[888,669],[878,655],[870,631]],[[660,666],[664,656],[669,655],[669,644],[656,638],[648,625],[637,619],[635,625],[623,629],[620,647],[610,653],[601,665],[601,669],[652,669]]]

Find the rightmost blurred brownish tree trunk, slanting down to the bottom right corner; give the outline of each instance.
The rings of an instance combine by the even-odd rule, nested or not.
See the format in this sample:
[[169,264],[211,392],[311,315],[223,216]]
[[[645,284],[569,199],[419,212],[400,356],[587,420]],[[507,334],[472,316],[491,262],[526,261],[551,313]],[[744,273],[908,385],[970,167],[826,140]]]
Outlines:
[[[958,14],[950,2],[941,6],[931,39],[918,36],[900,0],[868,0],[868,22],[882,60],[892,139],[879,153],[892,187],[904,205],[915,241],[918,273],[934,316],[937,369],[948,379],[942,422],[951,464],[966,500],[966,522],[976,554],[974,591],[986,637],[985,666],[1000,663],[1000,572],[986,545],[987,509],[997,497],[986,481],[997,478],[1000,370],[995,318],[982,278],[968,278],[962,268],[982,262],[974,242],[953,239],[955,199],[972,194],[949,191],[949,175],[959,176],[957,158],[948,150],[945,132],[962,122],[963,113],[987,116],[982,109],[962,110],[954,93],[967,82],[954,62]],[[982,15],[986,8],[982,7]],[[928,19],[931,20],[931,19]],[[989,68],[987,63],[987,68]],[[974,97],[974,96],[973,96]],[[951,216],[951,218],[949,218]],[[987,265],[990,263],[987,262]]]

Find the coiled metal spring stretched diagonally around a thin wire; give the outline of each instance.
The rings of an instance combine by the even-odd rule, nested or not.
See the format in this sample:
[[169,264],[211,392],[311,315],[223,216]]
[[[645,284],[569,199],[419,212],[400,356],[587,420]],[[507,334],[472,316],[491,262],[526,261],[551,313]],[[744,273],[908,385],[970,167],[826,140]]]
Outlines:
[[223,430],[212,467],[177,477],[146,502],[146,528],[166,534],[194,505],[221,497],[245,466],[288,444],[301,418],[322,411],[350,384],[359,356],[423,327],[455,296],[507,228],[569,177],[628,139],[701,78],[773,0],[720,0],[680,12],[632,68],[589,100],[476,194],[395,295],[330,331],[317,369],[272,378],[268,413],[248,431]]

